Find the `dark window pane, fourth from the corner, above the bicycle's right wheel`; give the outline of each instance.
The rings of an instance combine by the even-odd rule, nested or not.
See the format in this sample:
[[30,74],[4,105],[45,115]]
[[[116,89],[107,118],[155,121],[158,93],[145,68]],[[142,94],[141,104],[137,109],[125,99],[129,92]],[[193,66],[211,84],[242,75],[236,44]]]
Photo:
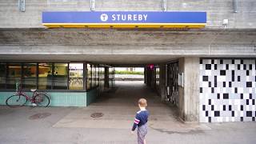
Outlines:
[[37,88],[37,64],[24,63],[23,65],[23,89]]

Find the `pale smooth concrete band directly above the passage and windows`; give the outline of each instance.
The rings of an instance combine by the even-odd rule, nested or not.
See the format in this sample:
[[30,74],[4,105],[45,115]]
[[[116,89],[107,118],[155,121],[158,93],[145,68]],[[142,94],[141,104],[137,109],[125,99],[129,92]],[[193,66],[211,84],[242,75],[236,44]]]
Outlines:
[[[155,57],[255,57],[256,46],[18,46],[0,45],[0,54],[27,55],[154,55]],[[153,57],[154,57],[153,56]]]

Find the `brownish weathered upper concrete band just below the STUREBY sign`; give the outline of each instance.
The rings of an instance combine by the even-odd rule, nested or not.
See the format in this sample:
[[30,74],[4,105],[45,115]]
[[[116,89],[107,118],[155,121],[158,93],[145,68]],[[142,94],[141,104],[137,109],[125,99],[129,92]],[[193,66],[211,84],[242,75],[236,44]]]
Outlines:
[[0,29],[2,45],[248,46],[256,45],[255,39],[256,29]]

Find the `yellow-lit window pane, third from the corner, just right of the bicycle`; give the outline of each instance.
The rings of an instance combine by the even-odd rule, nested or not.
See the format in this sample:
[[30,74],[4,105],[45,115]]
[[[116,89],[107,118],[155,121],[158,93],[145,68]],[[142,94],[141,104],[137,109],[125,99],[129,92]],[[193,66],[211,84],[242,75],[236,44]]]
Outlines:
[[39,63],[38,68],[38,89],[50,90],[52,86],[52,63]]

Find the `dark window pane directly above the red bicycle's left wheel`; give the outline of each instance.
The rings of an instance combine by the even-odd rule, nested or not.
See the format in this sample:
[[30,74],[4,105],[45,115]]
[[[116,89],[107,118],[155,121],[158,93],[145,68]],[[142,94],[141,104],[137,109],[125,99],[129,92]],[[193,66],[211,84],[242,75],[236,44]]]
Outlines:
[[16,82],[21,84],[22,79],[22,64],[11,62],[8,64],[7,89],[16,89]]

